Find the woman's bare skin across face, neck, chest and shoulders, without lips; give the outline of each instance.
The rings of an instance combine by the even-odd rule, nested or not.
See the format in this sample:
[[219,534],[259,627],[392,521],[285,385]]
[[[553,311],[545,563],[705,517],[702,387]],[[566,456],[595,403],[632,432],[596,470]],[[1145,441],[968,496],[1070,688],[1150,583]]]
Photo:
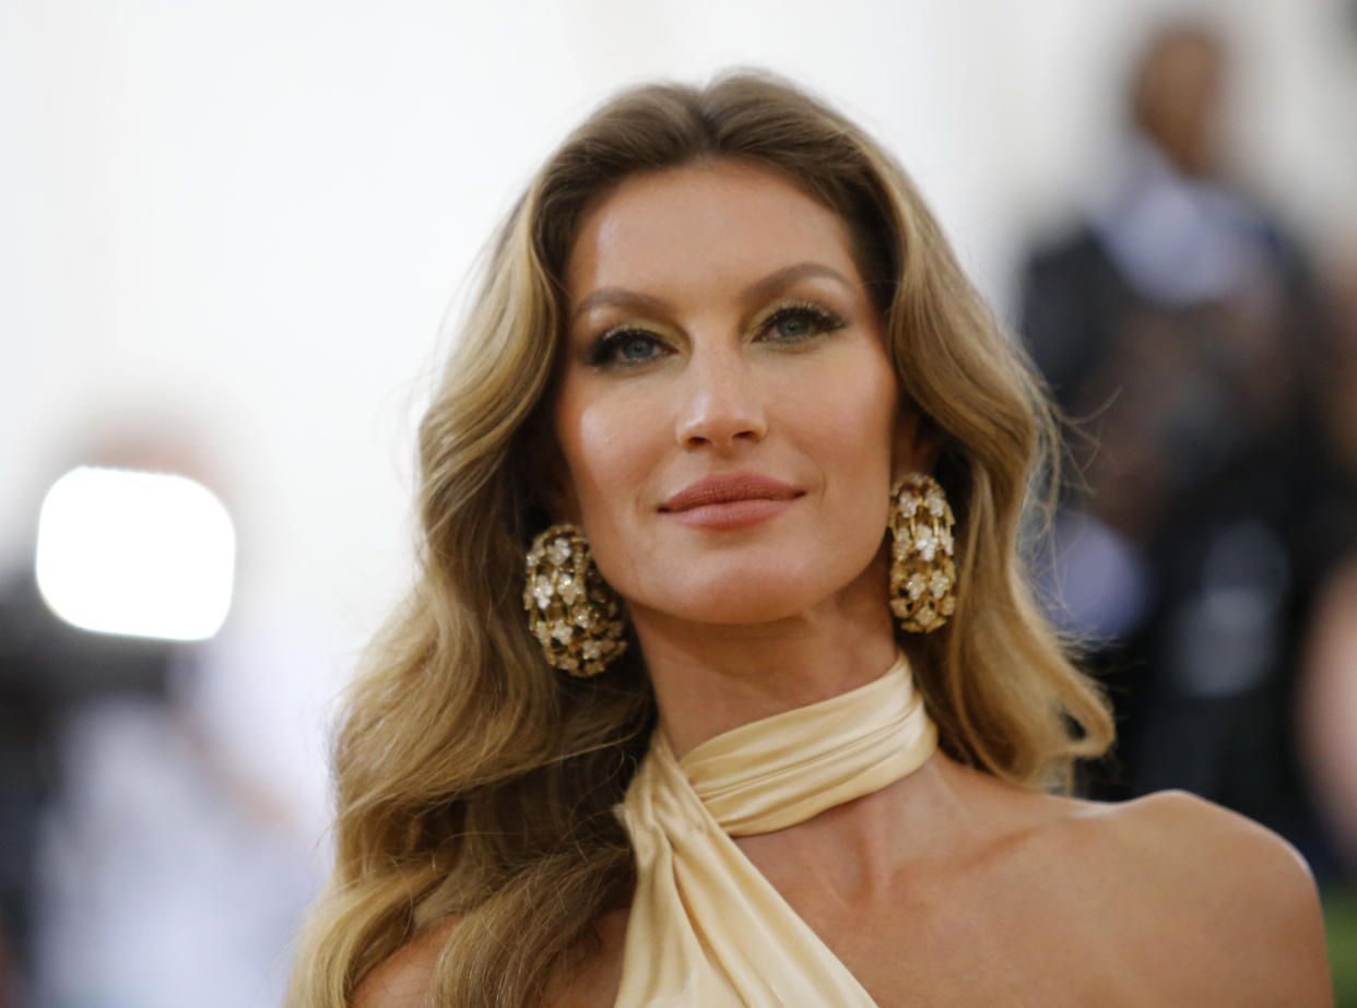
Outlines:
[[[585,217],[566,281],[555,510],[627,600],[676,752],[883,673],[887,490],[934,450],[844,222],[750,166],[634,176]],[[798,495],[738,529],[665,510],[731,472]],[[938,753],[737,842],[882,1008],[1333,1003],[1303,860],[1186,794],[1057,798]],[[613,1003],[626,916],[600,923],[600,954],[552,1005]],[[421,1004],[453,927],[379,967],[357,1004]]]

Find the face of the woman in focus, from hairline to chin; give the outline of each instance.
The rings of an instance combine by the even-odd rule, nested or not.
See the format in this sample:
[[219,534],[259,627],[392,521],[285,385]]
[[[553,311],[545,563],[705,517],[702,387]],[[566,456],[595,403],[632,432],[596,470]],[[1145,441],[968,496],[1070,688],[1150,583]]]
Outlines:
[[843,220],[733,161],[636,175],[585,216],[566,286],[558,510],[634,617],[885,608],[915,425]]

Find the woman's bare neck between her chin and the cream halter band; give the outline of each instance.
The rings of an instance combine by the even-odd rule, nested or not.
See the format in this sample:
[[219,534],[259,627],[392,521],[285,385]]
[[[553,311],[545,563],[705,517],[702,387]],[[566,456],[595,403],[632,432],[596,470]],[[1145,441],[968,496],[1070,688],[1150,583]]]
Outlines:
[[890,612],[883,589],[871,590],[878,579],[859,581],[773,623],[692,623],[632,606],[660,723],[674,754],[885,673],[897,651]]

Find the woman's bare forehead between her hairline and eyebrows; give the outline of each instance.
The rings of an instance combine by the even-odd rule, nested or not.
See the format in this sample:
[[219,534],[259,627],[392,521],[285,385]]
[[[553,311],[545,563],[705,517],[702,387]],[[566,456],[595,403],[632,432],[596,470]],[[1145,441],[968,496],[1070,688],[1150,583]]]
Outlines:
[[571,303],[598,286],[674,288],[822,262],[860,284],[847,225],[783,175],[710,160],[624,179],[581,220]]

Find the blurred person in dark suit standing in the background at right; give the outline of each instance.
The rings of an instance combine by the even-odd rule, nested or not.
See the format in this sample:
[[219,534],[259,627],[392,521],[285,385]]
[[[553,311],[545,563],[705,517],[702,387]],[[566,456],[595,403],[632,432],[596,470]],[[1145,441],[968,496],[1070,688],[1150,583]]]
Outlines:
[[1079,431],[1053,612],[1092,642],[1115,704],[1092,794],[1186,788],[1324,875],[1291,712],[1327,548],[1312,528],[1327,320],[1296,241],[1221,164],[1227,71],[1209,26],[1153,34],[1117,170],[1025,270],[1023,334]]

